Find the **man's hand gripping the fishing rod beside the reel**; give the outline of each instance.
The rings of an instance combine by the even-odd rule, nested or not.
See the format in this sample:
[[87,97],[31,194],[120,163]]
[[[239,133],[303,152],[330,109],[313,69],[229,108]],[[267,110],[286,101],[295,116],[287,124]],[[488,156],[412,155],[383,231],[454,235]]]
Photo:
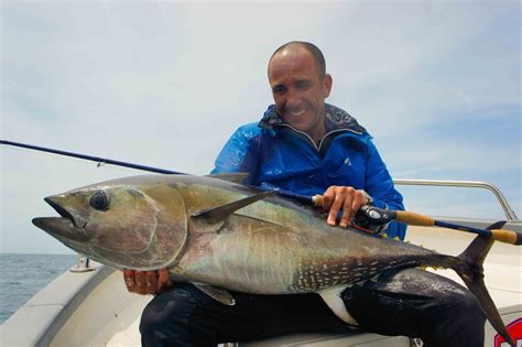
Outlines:
[[326,223],[330,226],[335,226],[338,213],[342,212],[339,226],[346,228],[359,208],[368,203],[368,195],[365,191],[358,191],[348,186],[333,185],[323,194],[323,209],[329,210]]

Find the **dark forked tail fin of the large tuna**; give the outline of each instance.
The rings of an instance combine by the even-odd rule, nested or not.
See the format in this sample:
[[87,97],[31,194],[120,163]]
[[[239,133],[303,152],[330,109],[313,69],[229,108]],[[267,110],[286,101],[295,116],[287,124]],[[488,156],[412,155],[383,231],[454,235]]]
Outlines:
[[[500,229],[504,224],[504,221],[496,223],[487,229]],[[500,317],[499,311],[497,310],[483,282],[482,263],[493,246],[493,242],[494,240],[491,238],[485,238],[482,236],[476,237],[466,250],[457,257],[461,262],[455,264],[453,268],[466,283],[469,291],[477,297],[493,328],[505,339],[505,341],[511,346],[514,346],[513,339],[508,333],[508,329]]]

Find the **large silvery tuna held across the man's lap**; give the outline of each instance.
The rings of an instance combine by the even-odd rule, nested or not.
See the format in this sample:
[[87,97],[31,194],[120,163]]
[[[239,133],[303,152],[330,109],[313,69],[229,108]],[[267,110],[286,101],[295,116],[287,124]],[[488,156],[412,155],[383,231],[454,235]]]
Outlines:
[[259,294],[318,293],[357,324],[339,293],[383,272],[414,267],[455,270],[491,325],[512,343],[483,283],[492,240],[477,237],[459,256],[348,228],[272,192],[237,183],[242,175],[146,175],[102,182],[46,197],[61,217],[33,224],[65,246],[116,269],[170,269],[233,304],[227,290]]

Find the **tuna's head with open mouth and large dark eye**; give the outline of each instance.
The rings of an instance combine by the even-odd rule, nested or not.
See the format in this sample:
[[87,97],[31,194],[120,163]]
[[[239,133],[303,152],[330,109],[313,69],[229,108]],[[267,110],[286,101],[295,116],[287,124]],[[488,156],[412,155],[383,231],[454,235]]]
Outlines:
[[61,217],[33,224],[65,246],[118,268],[175,263],[187,240],[187,215],[174,187],[99,184],[44,199]]

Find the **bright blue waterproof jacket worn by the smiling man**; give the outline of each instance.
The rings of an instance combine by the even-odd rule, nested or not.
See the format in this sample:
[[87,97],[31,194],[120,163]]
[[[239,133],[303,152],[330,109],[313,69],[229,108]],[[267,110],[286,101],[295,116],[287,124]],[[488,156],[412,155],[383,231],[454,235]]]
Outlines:
[[[284,122],[272,105],[259,123],[240,127],[225,144],[213,173],[249,173],[247,184],[296,194],[323,194],[331,185],[365,189],[377,207],[404,209],[402,195],[371,135],[346,111],[325,105],[326,135],[316,145]],[[390,237],[404,239],[406,227],[391,223]]]

